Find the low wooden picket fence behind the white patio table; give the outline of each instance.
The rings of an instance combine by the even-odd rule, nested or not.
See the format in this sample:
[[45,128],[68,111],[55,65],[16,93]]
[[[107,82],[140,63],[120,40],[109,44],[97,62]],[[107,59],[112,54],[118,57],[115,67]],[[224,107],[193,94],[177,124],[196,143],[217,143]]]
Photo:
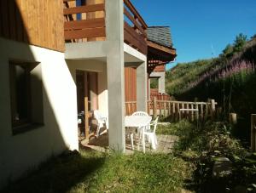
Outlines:
[[[151,116],[160,116],[163,118],[169,117],[173,120],[187,118],[195,119],[212,119],[216,116],[216,105],[214,99],[209,99],[208,102],[188,102],[188,101],[172,101],[172,100],[157,100],[148,101],[148,114]],[[137,111],[136,101],[125,102],[125,114],[131,115]]]

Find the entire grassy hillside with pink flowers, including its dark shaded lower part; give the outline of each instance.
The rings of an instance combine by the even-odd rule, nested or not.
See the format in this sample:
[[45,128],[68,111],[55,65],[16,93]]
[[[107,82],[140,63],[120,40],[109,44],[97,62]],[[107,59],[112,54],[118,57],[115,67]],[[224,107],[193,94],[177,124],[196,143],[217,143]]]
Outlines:
[[239,127],[249,128],[250,114],[256,113],[255,67],[256,38],[246,41],[239,35],[218,58],[178,64],[166,71],[166,91],[178,100],[216,99],[224,118],[236,112]]

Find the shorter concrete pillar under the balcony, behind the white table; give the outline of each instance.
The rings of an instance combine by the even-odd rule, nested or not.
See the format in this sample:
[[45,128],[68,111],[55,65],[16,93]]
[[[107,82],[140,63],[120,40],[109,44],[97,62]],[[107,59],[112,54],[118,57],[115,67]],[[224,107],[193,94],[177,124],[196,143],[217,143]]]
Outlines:
[[137,67],[137,111],[147,112],[147,62]]

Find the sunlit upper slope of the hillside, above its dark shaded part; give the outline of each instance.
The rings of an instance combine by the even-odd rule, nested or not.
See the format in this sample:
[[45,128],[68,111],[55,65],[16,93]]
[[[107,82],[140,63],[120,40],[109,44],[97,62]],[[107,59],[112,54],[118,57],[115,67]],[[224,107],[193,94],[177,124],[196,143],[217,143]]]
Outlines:
[[210,60],[179,63],[172,70],[166,71],[167,93],[175,96],[177,99],[190,99],[193,95],[189,96],[186,94],[189,94],[189,90],[195,89],[200,84],[212,81],[218,82],[220,79],[230,77],[229,73],[234,75],[244,71],[246,68],[253,68],[256,63],[255,49],[256,38],[254,37],[247,41],[240,52],[232,54],[230,58],[224,57],[221,54],[218,58]]

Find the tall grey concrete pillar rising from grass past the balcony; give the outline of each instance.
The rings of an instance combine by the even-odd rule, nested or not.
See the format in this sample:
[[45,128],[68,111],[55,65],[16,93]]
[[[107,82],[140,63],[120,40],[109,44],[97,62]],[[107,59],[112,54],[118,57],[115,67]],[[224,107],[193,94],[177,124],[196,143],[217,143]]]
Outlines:
[[123,0],[106,1],[109,147],[125,152]]

